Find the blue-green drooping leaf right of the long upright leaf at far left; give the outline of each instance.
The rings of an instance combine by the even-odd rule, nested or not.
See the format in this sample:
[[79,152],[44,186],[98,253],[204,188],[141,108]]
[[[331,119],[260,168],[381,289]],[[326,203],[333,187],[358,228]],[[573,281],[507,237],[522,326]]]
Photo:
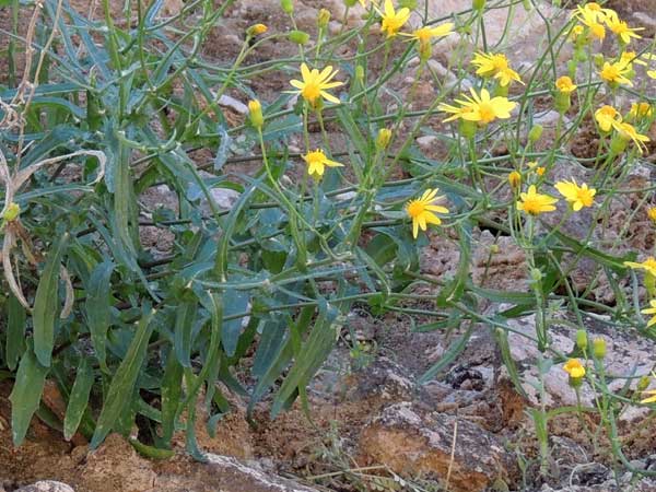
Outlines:
[[96,359],[101,364],[103,372],[109,372],[107,368],[107,329],[110,324],[112,306],[112,272],[114,263],[104,261],[99,263],[91,273],[89,285],[86,286],[86,323],[91,333],[91,343],[95,350]]

